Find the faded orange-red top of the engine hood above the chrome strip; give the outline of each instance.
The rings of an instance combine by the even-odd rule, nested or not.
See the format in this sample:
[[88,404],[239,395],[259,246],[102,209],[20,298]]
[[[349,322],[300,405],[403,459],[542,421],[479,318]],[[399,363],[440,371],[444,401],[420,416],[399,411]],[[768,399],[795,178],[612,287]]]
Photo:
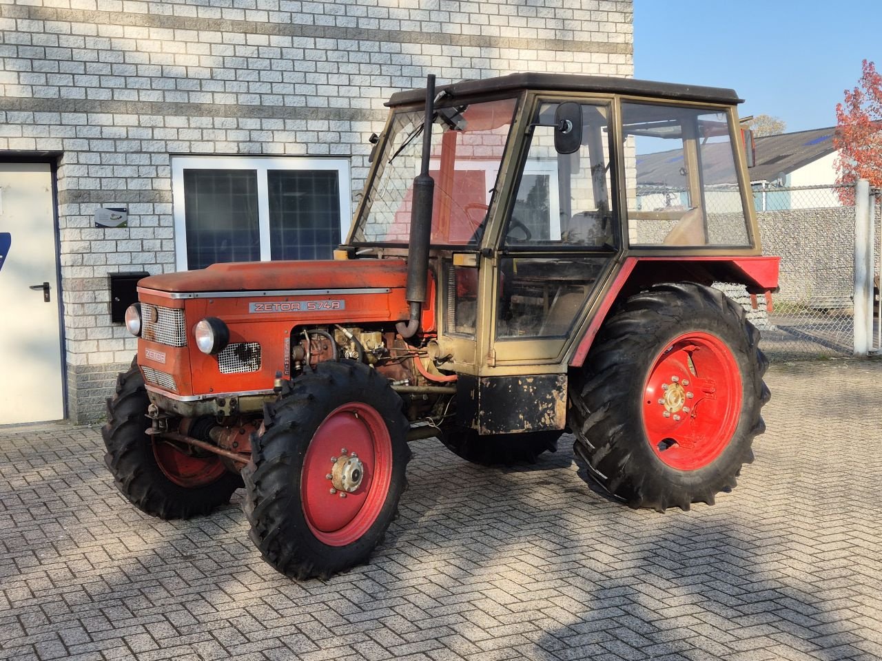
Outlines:
[[138,289],[169,293],[268,292],[299,289],[404,287],[407,262],[400,259],[310,262],[235,262],[198,271],[149,276]]

